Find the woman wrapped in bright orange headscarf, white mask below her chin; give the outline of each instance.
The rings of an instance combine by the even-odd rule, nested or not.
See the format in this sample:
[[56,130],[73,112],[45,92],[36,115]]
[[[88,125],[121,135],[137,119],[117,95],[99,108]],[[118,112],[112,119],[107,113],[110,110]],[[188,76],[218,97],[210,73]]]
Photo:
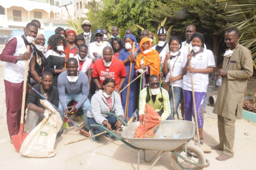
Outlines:
[[148,82],[150,75],[160,73],[160,57],[159,53],[156,50],[151,49],[152,42],[149,38],[144,37],[140,41],[140,50],[136,58],[135,65],[135,75],[138,76],[144,70],[147,69],[146,73],[142,75],[142,89],[145,87],[145,84]]

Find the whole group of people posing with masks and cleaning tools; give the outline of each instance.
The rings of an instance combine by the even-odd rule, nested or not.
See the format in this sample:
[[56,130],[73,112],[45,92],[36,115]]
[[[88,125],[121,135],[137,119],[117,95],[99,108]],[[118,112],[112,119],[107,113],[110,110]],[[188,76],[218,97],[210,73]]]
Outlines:
[[[107,40],[106,29],[92,33],[88,20],[84,20],[81,27],[84,33],[78,35],[73,30],[58,27],[45,47],[46,40],[39,32],[40,22],[33,20],[24,28],[22,36],[14,37],[6,44],[0,59],[6,62],[4,84],[10,136],[19,131],[25,60],[29,60],[29,83],[66,116],[76,112],[74,119],[81,122],[79,112],[82,112],[85,129],[91,136],[104,131],[91,127],[91,124],[104,125],[110,130],[121,127],[119,120],[105,112],[113,112],[127,122],[134,113],[144,114],[145,104],[150,104],[162,120],[170,120],[179,115],[181,104],[182,117],[187,121],[192,121],[196,110],[198,140],[204,144],[201,110],[207,93],[208,74],[216,65],[212,51],[206,49],[203,34],[197,33],[194,25],[186,28],[184,42],[178,36],[172,36],[166,42],[168,33],[161,27],[157,31],[157,45],[152,44],[153,36],[147,30],[140,33],[140,43],[137,43],[131,30],[127,30],[121,39],[118,27],[114,26],[111,38]],[[217,160],[227,160],[234,155],[234,122],[241,115],[244,88],[253,72],[251,53],[238,43],[238,39],[238,29],[227,30],[225,42],[230,50],[224,55],[223,69],[215,73],[217,79],[222,76],[223,80],[214,109],[218,114],[220,144],[212,149],[223,150]],[[27,45],[29,52],[26,52]],[[238,94],[239,99],[230,97]],[[44,118],[45,108],[40,99],[30,90],[26,100],[30,132]],[[63,129],[57,137],[62,133]],[[111,134],[103,135],[116,140]],[[98,143],[99,138],[93,137],[91,141]]]

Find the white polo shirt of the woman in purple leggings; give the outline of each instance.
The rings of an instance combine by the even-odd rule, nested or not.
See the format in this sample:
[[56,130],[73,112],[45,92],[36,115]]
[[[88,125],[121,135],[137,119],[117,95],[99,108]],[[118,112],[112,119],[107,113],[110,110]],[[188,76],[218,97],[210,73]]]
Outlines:
[[[182,68],[185,67],[186,62],[187,57],[184,57]],[[204,49],[203,52],[198,53],[196,56],[192,56],[191,64],[195,69],[207,69],[209,67],[215,67],[215,60],[212,51],[209,49]],[[195,92],[207,92],[208,83],[208,73],[193,73],[193,85]],[[183,76],[182,88],[184,90],[192,91],[189,72]]]

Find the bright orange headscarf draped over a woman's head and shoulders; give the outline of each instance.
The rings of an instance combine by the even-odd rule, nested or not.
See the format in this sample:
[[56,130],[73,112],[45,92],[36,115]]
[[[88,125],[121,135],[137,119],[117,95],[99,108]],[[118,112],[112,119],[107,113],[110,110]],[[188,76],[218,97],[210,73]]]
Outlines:
[[136,65],[135,65],[135,69],[140,69],[140,60],[142,59],[143,56],[143,61],[144,61],[144,65],[145,66],[149,66],[150,67],[150,75],[156,74],[157,76],[159,76],[158,74],[160,73],[160,56],[159,53],[156,50],[151,49],[150,52],[147,53],[143,53],[143,48],[142,45],[144,42],[149,41],[149,48],[151,48],[151,41],[149,40],[149,38],[144,37],[142,38],[142,40],[140,41],[140,50],[141,52],[138,54],[137,58],[136,58]]

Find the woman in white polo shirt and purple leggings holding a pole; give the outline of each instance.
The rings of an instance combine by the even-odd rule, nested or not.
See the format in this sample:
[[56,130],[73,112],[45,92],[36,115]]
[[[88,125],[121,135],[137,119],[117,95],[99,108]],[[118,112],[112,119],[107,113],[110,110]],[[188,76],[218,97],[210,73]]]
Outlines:
[[[191,55],[184,58],[182,64],[183,71],[183,93],[185,103],[185,120],[192,121],[194,117],[193,97],[191,88],[190,73],[193,73],[193,85],[195,92],[195,107],[199,129],[200,144],[204,144],[203,119],[201,115],[202,103],[205,99],[208,86],[208,74],[212,73],[215,67],[215,60],[212,51],[204,49],[204,36],[201,33],[194,33],[191,36]],[[189,67],[189,60],[192,66]]]

